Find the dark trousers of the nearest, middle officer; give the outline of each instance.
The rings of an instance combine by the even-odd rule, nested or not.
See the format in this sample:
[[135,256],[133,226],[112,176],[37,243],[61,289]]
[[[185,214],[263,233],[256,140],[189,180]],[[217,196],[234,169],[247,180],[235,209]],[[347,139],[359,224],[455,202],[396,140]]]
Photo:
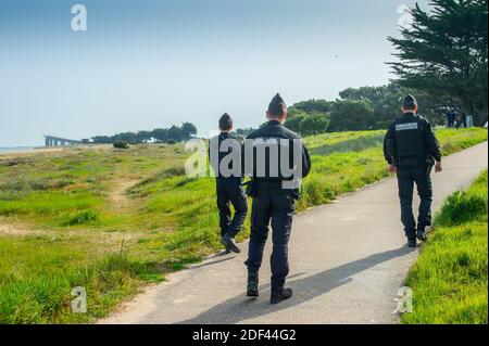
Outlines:
[[294,202],[291,191],[281,189],[259,189],[253,198],[250,245],[246,265],[249,271],[258,272],[260,270],[268,238],[268,226],[272,223],[272,291],[276,292],[284,289],[289,273],[288,247]]

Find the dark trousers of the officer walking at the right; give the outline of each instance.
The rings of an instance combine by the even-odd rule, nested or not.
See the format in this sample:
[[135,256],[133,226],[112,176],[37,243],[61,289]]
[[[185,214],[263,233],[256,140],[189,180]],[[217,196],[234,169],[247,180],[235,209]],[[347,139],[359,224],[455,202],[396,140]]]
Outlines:
[[[432,165],[426,164],[418,167],[398,168],[399,197],[401,200],[401,220],[404,225],[406,236],[414,238],[416,228],[425,230],[431,226],[431,184]],[[413,215],[413,192],[414,184],[421,198],[419,217],[416,221]]]

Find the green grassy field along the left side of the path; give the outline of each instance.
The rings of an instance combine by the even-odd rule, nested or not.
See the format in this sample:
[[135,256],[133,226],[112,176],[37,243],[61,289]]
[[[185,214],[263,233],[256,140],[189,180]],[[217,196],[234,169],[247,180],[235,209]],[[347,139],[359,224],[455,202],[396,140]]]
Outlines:
[[[384,133],[308,138],[314,166],[298,209],[387,177]],[[486,141],[487,131],[438,137],[449,154]],[[180,144],[137,145],[0,162],[0,225],[28,230],[0,233],[0,323],[91,321],[141,284],[221,249],[214,179],[185,177],[187,155]],[[240,240],[248,234],[249,218]],[[78,285],[86,315],[70,311]]]

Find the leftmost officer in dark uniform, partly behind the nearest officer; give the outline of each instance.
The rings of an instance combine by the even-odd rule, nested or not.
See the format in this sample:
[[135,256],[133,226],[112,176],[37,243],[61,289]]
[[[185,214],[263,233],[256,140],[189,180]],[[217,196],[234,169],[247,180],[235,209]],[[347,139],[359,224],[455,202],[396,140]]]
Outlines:
[[[226,247],[226,252],[240,253],[235,238],[241,230],[242,223],[248,213],[248,201],[242,188],[242,144],[230,133],[233,130],[233,119],[226,113],[220,119],[221,133],[217,138],[211,139],[210,151],[215,150],[215,156],[210,152],[211,165],[216,174],[217,207],[220,210],[221,243]],[[212,145],[215,142],[215,146]],[[223,142],[226,145],[222,145]],[[234,151],[237,159],[230,159],[228,166],[223,167],[223,159]],[[214,161],[213,157],[216,159]],[[240,167],[233,167],[238,165]],[[234,169],[234,168],[237,168]],[[235,209],[231,220],[230,205]]]

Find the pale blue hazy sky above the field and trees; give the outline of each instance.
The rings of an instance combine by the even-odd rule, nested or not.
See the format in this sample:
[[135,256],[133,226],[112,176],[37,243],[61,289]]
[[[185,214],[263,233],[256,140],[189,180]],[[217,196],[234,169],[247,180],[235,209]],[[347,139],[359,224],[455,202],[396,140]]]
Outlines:
[[[87,8],[87,31],[71,27]],[[421,1],[422,4],[426,0]],[[0,146],[41,145],[289,104],[388,82],[411,0],[1,0]]]

